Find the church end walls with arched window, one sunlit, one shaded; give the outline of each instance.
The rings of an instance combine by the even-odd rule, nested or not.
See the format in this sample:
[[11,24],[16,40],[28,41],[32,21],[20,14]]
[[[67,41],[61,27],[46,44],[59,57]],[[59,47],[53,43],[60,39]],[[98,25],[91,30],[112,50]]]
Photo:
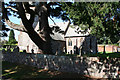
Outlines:
[[[72,46],[68,46],[69,40],[72,41]],[[77,51],[77,54],[89,54],[97,52],[97,42],[94,36],[66,38],[66,46],[67,53],[69,54],[76,54],[75,51]]]

